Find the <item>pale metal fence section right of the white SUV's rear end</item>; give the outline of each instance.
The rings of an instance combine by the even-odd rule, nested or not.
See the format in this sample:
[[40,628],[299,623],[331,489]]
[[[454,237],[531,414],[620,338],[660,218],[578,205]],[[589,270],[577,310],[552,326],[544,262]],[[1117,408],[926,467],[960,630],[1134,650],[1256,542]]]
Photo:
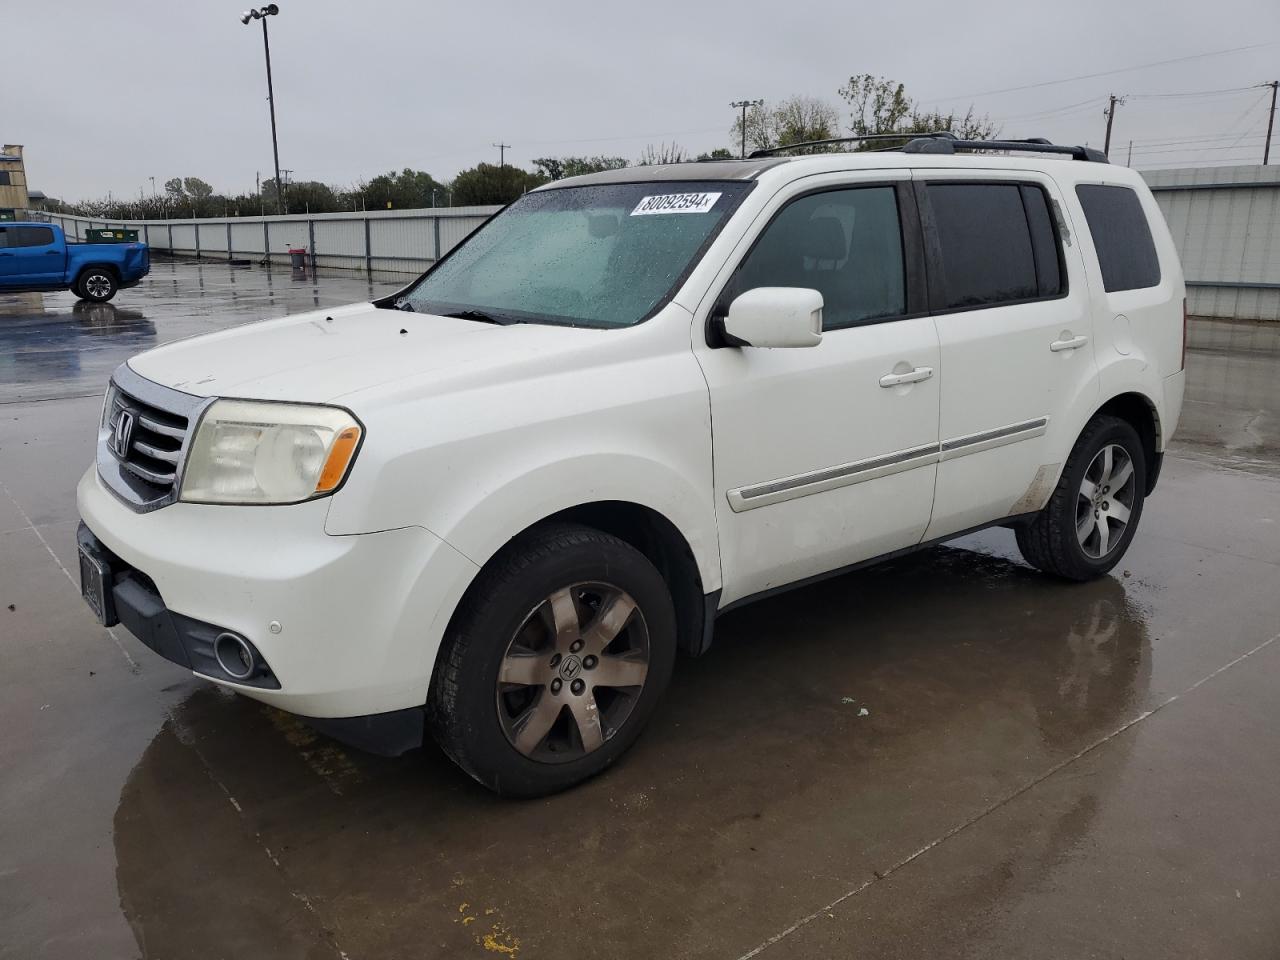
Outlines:
[[1148,170],[1197,316],[1280,320],[1280,166]]

